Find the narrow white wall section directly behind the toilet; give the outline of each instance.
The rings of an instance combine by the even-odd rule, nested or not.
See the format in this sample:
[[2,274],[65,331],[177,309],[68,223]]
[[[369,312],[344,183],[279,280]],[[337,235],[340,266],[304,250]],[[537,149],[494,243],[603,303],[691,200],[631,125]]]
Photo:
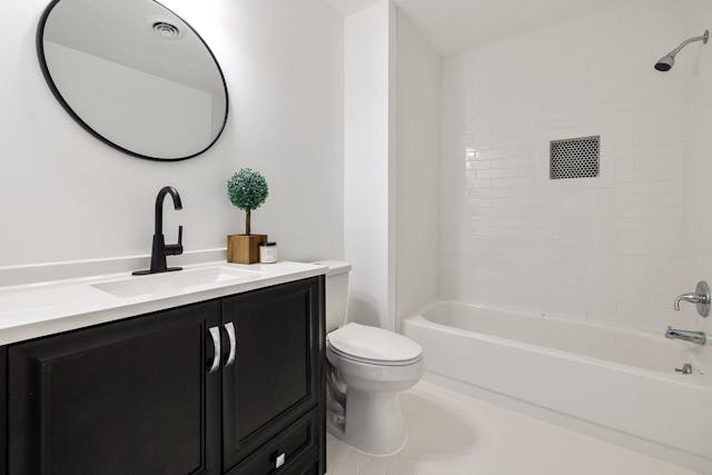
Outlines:
[[389,128],[392,4],[383,0],[344,24],[345,257],[348,319],[393,328],[394,205]]

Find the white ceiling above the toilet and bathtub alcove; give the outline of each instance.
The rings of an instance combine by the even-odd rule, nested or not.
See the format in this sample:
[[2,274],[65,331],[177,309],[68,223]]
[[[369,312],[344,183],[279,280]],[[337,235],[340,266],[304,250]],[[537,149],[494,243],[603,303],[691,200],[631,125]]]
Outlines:
[[[379,0],[326,0],[344,14]],[[627,0],[394,0],[444,56],[563,23]]]

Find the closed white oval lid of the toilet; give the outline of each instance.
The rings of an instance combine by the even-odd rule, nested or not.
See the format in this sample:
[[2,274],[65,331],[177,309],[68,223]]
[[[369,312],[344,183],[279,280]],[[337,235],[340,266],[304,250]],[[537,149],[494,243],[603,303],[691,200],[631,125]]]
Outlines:
[[423,348],[403,335],[348,324],[327,336],[332,350],[345,358],[383,365],[407,365],[421,359]]

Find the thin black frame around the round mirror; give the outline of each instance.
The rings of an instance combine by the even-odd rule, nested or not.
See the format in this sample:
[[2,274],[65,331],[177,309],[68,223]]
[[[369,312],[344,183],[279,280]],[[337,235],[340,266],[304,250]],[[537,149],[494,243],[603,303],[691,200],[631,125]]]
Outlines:
[[188,160],[189,158],[195,158],[195,157],[197,157],[197,156],[199,156],[201,154],[205,154],[206,151],[208,151],[218,141],[218,139],[220,138],[220,136],[225,131],[225,127],[227,126],[227,120],[228,120],[229,109],[230,109],[230,107],[229,107],[229,102],[230,101],[229,101],[229,95],[228,95],[228,90],[227,90],[227,82],[225,80],[225,75],[222,73],[222,68],[220,68],[220,63],[218,62],[217,58],[212,53],[212,50],[210,49],[208,43],[202,39],[200,33],[198,33],[195,30],[195,28],[192,28],[190,26],[190,23],[188,23],[185,19],[182,19],[182,17],[180,17],[179,14],[177,14],[175,11],[172,11],[168,7],[164,6],[162,3],[158,2],[157,0],[150,0],[150,1],[152,1],[155,3],[158,3],[159,6],[161,6],[162,8],[165,8],[166,10],[168,10],[169,12],[171,12],[172,14],[178,17],[180,19],[180,21],[182,21],[190,29],[190,31],[192,31],[196,34],[196,37],[198,37],[200,42],[202,42],[202,44],[205,46],[206,50],[208,51],[208,53],[212,58],[212,61],[215,62],[215,66],[218,68],[218,72],[220,73],[220,79],[222,80],[222,88],[225,90],[225,117],[222,119],[222,127],[220,127],[220,130],[218,131],[218,133],[215,137],[215,139],[206,148],[204,148],[202,150],[200,150],[200,151],[198,151],[196,154],[192,154],[192,155],[189,155],[189,156],[186,156],[186,157],[180,157],[180,158],[157,158],[157,157],[149,157],[149,156],[146,156],[146,155],[141,155],[141,154],[138,154],[136,151],[131,151],[131,150],[129,150],[127,148],[123,148],[120,145],[115,144],[111,140],[107,139],[101,133],[99,133],[95,129],[92,129],[91,126],[89,126],[87,122],[85,122],[82,120],[82,118],[79,117],[79,115],[77,112],[75,112],[75,110],[69,106],[67,100],[65,100],[65,98],[62,97],[61,92],[57,88],[57,85],[55,83],[55,80],[52,79],[52,76],[49,72],[49,68],[47,67],[47,58],[44,57],[44,27],[47,26],[47,20],[49,18],[50,13],[52,12],[55,7],[60,1],[61,0],[52,0],[47,6],[44,11],[42,12],[42,16],[40,17],[40,21],[39,21],[39,24],[37,27],[37,37],[36,37],[37,57],[38,57],[38,60],[39,60],[39,63],[40,63],[40,69],[42,70],[42,76],[44,77],[44,80],[47,81],[47,86],[49,86],[49,89],[52,91],[52,95],[59,101],[59,103],[62,106],[62,108],[67,111],[67,113],[69,113],[69,116],[71,116],[71,118],[75,119],[75,121],[77,123],[79,123],[87,132],[89,132],[95,138],[97,138],[100,141],[102,141],[103,144],[108,145],[109,147],[115,148],[117,150],[120,150],[123,154],[130,155],[131,157],[141,158],[141,159],[145,159],[145,160],[152,160],[152,161],[182,161],[182,160]]

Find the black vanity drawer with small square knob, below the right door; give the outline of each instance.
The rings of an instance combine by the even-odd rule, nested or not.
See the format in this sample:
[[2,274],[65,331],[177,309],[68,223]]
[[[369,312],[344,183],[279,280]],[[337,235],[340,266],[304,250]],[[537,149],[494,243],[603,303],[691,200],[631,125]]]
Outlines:
[[[312,410],[258,448],[227,475],[312,475],[318,472],[320,417]],[[279,465],[279,466],[278,466]]]

